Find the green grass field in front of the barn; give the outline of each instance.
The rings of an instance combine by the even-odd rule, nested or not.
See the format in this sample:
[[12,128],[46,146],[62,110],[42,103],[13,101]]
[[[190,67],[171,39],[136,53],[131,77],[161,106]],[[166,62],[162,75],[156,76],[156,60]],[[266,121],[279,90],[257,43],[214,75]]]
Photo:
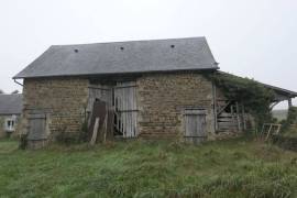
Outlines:
[[248,139],[16,147],[0,141],[0,197],[297,197],[297,153]]

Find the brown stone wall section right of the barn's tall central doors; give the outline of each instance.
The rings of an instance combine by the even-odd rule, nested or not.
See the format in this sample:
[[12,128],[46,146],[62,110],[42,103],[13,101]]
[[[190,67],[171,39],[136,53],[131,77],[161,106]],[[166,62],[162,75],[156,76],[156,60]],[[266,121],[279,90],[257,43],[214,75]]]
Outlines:
[[183,138],[183,110],[207,110],[207,132],[215,134],[212,82],[201,74],[147,74],[138,79],[140,136]]

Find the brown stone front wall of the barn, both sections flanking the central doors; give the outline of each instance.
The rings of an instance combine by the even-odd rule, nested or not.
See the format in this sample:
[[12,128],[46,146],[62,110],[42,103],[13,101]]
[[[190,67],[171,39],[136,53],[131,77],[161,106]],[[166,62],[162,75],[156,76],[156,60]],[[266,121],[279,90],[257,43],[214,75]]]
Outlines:
[[[62,131],[76,135],[85,118],[89,85],[85,78],[25,79],[21,133],[29,131],[29,114],[43,112],[50,141]],[[136,79],[136,100],[141,138],[182,139],[185,108],[205,109],[208,139],[215,138],[213,87],[202,74],[142,75]]]

